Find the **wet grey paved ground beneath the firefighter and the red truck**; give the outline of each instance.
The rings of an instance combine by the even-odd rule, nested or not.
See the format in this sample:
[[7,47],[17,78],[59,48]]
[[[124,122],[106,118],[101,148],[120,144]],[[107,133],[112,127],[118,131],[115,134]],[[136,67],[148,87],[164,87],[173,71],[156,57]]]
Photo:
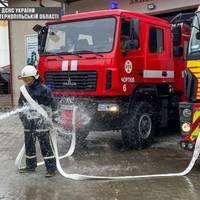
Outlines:
[[[92,132],[85,146],[61,164],[67,173],[87,175],[181,172],[187,167],[191,154],[179,148],[179,135],[175,131],[165,130],[164,134],[148,149],[128,151],[122,146],[120,132]],[[59,141],[64,152],[65,138]],[[47,179],[44,166],[32,174],[17,172],[14,161],[22,144],[23,128],[19,119],[10,117],[0,121],[0,200],[197,200],[200,197],[199,161],[185,177],[73,181],[57,173]]]

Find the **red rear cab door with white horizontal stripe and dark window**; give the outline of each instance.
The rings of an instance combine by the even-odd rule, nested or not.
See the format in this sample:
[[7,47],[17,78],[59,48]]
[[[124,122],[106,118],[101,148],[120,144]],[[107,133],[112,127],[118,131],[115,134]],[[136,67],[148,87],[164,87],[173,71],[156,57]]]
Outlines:
[[174,67],[171,56],[170,29],[149,24],[147,37],[144,82],[173,82]]

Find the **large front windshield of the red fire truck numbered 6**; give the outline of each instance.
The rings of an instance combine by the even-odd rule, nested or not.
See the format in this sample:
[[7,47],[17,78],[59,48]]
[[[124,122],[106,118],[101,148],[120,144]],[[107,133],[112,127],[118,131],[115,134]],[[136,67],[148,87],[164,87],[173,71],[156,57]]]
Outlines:
[[111,52],[114,46],[115,27],[114,17],[49,25],[42,54]]

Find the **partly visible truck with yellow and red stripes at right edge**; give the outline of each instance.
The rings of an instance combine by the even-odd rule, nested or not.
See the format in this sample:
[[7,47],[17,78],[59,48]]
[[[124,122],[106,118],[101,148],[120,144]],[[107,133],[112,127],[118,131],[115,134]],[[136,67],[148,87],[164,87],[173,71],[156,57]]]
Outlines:
[[200,9],[194,14],[192,23],[185,82],[188,101],[180,103],[180,145],[193,150],[200,132]]

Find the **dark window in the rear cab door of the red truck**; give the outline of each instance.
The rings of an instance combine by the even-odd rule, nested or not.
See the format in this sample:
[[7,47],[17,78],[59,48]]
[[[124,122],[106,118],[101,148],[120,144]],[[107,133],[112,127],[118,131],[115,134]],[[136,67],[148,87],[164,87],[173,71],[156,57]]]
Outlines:
[[164,51],[164,34],[160,28],[151,27],[149,31],[149,52],[162,53]]

